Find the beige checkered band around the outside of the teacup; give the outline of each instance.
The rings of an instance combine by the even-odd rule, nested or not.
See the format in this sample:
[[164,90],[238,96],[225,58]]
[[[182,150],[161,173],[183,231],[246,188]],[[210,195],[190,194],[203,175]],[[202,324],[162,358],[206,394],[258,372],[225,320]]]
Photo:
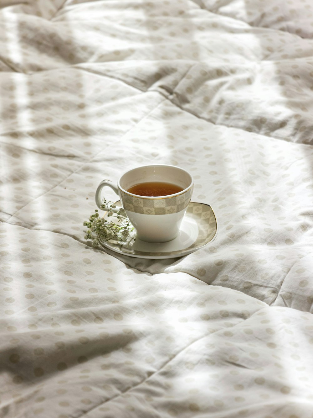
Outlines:
[[126,211],[145,215],[167,215],[184,210],[190,203],[192,191],[193,186],[174,197],[155,197],[153,199],[131,196],[121,190],[119,190],[119,194]]

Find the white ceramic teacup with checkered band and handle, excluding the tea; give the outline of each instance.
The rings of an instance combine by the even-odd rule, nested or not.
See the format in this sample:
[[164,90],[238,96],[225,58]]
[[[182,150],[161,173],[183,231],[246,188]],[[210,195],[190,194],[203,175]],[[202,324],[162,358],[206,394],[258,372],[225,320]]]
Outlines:
[[[167,196],[139,196],[127,191],[132,186],[150,181],[172,183],[183,188]],[[136,237],[147,242],[167,242],[177,237],[190,203],[194,181],[188,171],[175,166],[154,164],[126,171],[117,187],[103,180],[96,190],[96,204],[101,209],[101,190],[109,186],[119,195],[128,219],[136,229]],[[119,209],[119,208],[117,208]]]

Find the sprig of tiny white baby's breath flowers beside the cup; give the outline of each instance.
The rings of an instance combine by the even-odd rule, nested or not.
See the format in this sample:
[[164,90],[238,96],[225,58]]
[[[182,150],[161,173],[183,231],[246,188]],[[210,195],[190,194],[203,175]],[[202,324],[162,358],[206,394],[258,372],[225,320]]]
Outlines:
[[129,223],[129,219],[126,217],[123,208],[114,211],[116,204],[103,198],[101,209],[107,210],[107,217],[115,217],[118,223],[99,217],[98,209],[96,209],[95,213],[89,217],[89,221],[83,223],[85,227],[88,227],[85,240],[92,240],[93,247],[98,247],[113,238],[118,240],[121,247],[128,238],[134,241],[136,240],[130,234],[134,230],[134,227]]

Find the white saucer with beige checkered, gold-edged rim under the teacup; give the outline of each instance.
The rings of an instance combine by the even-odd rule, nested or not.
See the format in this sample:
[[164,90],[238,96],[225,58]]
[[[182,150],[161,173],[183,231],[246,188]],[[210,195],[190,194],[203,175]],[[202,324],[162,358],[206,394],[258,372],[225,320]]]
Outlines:
[[[121,206],[117,201],[116,206]],[[103,218],[106,217],[104,214]],[[217,221],[210,205],[190,202],[178,236],[168,242],[154,244],[139,239],[126,241],[121,247],[116,239],[104,242],[103,247],[137,258],[174,258],[190,254],[212,242],[217,235]]]

